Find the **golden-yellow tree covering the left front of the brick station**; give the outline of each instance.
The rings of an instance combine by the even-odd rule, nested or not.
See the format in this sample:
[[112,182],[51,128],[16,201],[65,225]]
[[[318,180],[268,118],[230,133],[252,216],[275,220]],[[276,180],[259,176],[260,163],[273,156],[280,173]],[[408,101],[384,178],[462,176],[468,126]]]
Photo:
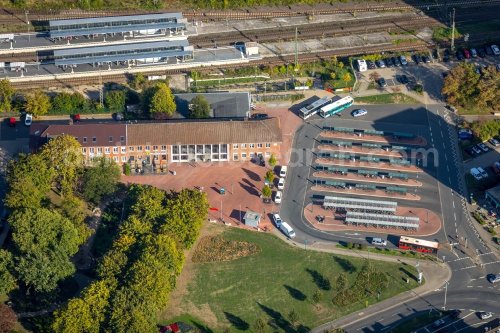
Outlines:
[[63,134],[49,140],[41,147],[41,156],[54,171],[61,195],[71,193],[83,170],[81,145],[74,136]]

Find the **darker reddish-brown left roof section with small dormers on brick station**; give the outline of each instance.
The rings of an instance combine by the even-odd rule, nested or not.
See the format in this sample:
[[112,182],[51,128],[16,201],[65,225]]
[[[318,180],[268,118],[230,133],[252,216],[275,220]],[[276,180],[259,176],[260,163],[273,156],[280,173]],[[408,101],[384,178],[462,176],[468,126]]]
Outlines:
[[[33,124],[29,130],[29,146],[36,149],[43,145],[48,138],[53,138],[57,135],[68,134],[78,138],[78,142],[82,147],[88,146],[114,146],[126,145],[126,125],[124,123],[74,123],[69,124]],[[95,136],[95,142],[92,142],[92,137]],[[113,137],[109,141],[109,136]],[[124,141],[120,141],[120,136],[124,137]],[[87,138],[83,142],[83,137]]]

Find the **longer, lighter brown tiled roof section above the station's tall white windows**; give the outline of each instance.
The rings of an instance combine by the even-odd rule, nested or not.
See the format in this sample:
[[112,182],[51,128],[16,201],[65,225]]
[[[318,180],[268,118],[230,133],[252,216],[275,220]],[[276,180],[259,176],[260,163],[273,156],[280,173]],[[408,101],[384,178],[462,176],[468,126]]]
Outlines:
[[281,143],[279,118],[127,124],[128,144]]

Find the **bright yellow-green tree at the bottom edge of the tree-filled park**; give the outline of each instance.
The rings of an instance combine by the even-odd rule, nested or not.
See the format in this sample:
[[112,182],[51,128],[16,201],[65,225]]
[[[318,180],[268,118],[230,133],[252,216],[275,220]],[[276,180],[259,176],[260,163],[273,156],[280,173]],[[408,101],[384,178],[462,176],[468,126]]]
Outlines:
[[110,289],[96,281],[81,291],[80,298],[70,299],[54,312],[52,328],[56,333],[98,333],[109,307]]

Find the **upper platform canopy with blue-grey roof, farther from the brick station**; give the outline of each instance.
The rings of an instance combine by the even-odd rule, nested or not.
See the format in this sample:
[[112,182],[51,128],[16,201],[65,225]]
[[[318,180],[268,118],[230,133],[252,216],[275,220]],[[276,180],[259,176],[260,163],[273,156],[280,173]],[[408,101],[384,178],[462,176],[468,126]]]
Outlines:
[[185,31],[187,19],[182,18],[181,12],[88,17],[74,19],[50,20],[50,37],[60,38],[69,36],[98,35],[116,32],[166,30]]

